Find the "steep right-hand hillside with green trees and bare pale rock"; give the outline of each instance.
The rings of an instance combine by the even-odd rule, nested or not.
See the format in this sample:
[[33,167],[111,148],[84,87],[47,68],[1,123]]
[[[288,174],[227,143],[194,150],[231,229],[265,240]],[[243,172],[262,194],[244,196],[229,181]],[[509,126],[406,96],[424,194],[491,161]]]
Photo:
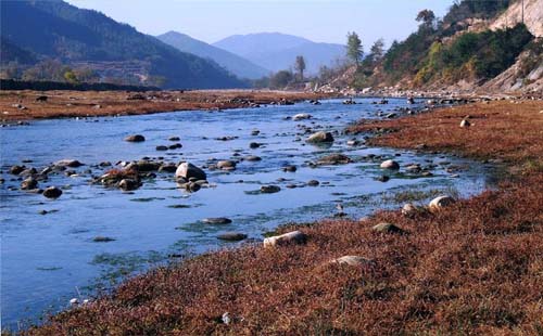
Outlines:
[[421,11],[417,31],[343,82],[394,91],[541,92],[542,9],[543,0],[525,0],[526,25],[519,0],[460,1],[442,20]]

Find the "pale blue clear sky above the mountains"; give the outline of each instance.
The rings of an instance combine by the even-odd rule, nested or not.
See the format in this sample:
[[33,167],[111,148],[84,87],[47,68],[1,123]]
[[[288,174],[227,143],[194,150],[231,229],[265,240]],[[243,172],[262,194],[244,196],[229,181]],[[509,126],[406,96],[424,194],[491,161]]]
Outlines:
[[212,43],[237,34],[283,33],[316,42],[345,43],[356,31],[363,44],[387,44],[417,27],[422,9],[443,16],[453,0],[67,0],[104,13],[139,31],[169,30]]

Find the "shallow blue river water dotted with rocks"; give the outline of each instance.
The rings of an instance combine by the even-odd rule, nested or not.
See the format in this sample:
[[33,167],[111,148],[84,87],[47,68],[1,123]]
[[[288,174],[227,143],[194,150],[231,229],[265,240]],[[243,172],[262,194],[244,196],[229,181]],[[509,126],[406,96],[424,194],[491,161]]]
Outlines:
[[[404,100],[374,105],[371,99],[356,105],[323,101],[321,105],[299,103],[293,106],[226,112],[174,112],[147,116],[53,119],[29,126],[7,127],[1,132],[1,318],[2,326],[17,329],[36,322],[46,311],[68,306],[73,297],[92,296],[97,288],[109,288],[128,274],[168,260],[205,250],[232,246],[217,235],[236,231],[258,241],[263,234],[286,222],[303,222],[332,217],[342,203],[344,212],[359,218],[377,208],[401,207],[406,201],[426,203],[441,193],[469,196],[488,186],[489,167],[467,160],[407,151],[349,146],[353,135],[343,130],[361,118],[378,118],[403,107]],[[308,113],[310,120],[292,121],[285,117]],[[330,147],[306,144],[303,127],[338,131]],[[253,130],[260,134],[252,135]],[[142,143],[123,141],[140,133]],[[180,138],[182,147],[157,152],[156,145],[172,144]],[[238,137],[223,141],[220,137]],[[300,141],[301,138],[302,140]],[[250,148],[251,142],[263,145]],[[320,156],[343,153],[353,163],[339,166],[308,165]],[[239,153],[239,156],[233,156]],[[370,158],[375,154],[380,157]],[[189,160],[206,166],[212,158],[240,159],[248,155],[261,161],[239,161],[235,171],[207,172],[212,188],[195,193],[179,190],[173,173],[157,173],[143,180],[142,188],[126,193],[89,184],[92,176],[111,168],[101,161],[136,160],[144,156],[164,161]],[[74,177],[51,175],[40,188],[58,185],[63,195],[50,201],[39,194],[17,190],[18,177],[9,173],[23,160],[41,170],[53,161],[74,158],[86,164]],[[399,172],[379,168],[382,160],[394,158]],[[429,167],[432,177],[409,173],[408,163]],[[282,167],[294,165],[295,172]],[[91,171],[89,172],[88,169]],[[390,176],[388,182],[377,180]],[[304,185],[318,180],[318,186]],[[281,191],[260,194],[263,184]],[[288,189],[288,184],[299,188]],[[48,211],[40,215],[40,211]],[[232,223],[210,225],[199,222],[207,217],[227,217]],[[111,242],[94,242],[97,236]],[[23,322],[21,322],[23,321]]]

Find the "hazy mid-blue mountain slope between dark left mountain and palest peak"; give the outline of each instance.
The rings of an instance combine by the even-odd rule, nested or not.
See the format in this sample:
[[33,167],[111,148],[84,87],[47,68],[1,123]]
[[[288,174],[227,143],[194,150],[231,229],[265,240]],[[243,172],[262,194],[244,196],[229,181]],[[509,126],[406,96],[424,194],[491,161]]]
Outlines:
[[156,37],[179,51],[203,59],[210,59],[240,78],[257,79],[268,75],[269,70],[251,63],[231,52],[207,44],[177,31],[168,31]]

